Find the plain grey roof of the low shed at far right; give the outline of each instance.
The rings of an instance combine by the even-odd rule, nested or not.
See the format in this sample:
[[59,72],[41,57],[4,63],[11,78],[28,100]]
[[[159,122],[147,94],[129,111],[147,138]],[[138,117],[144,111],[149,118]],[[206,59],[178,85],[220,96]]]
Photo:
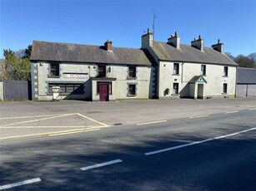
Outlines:
[[238,67],[237,84],[256,84],[256,69]]

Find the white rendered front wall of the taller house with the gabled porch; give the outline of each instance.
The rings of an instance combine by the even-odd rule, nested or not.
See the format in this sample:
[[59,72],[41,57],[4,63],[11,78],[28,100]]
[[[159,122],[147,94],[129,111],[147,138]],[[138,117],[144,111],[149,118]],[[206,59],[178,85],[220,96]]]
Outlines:
[[[233,97],[235,95],[236,67],[228,66],[228,76],[223,76],[224,66],[214,65],[214,64],[203,64],[203,65],[206,65],[206,76],[203,76],[203,77],[207,81],[207,83],[203,85],[204,96],[205,97],[222,97],[222,96]],[[189,90],[190,86],[188,82],[191,81],[193,76],[200,76],[200,75],[201,75],[201,63],[180,63],[179,62],[179,75],[176,76],[176,75],[173,75],[173,62],[160,61],[159,71],[158,71],[159,97],[172,98],[173,83],[178,83],[179,94],[181,97],[188,97],[189,95],[194,93],[192,90]],[[223,83],[228,84],[228,92],[226,95],[223,94]],[[170,90],[169,95],[164,94],[164,91],[167,88],[169,88]]]

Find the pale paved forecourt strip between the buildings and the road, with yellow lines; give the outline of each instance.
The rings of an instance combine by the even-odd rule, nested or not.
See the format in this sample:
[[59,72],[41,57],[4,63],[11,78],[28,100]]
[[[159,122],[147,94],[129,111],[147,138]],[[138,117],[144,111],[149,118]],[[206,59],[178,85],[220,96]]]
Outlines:
[[86,133],[216,113],[254,110],[256,98],[119,100],[115,102],[15,101],[0,103],[0,140]]

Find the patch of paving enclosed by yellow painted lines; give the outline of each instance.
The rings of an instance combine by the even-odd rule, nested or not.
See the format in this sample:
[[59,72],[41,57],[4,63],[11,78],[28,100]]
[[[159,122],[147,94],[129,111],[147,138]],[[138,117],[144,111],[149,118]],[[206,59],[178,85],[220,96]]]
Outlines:
[[0,141],[76,134],[108,127],[80,113],[3,117],[0,124]]

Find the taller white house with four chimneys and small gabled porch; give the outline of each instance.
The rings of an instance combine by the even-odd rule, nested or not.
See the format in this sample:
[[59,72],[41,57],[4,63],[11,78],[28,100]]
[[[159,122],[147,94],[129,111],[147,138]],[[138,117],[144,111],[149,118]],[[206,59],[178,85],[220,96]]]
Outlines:
[[235,96],[237,64],[223,53],[223,43],[204,47],[199,36],[185,45],[177,32],[167,42],[154,42],[148,30],[142,37],[142,48],[158,63],[158,98]]

